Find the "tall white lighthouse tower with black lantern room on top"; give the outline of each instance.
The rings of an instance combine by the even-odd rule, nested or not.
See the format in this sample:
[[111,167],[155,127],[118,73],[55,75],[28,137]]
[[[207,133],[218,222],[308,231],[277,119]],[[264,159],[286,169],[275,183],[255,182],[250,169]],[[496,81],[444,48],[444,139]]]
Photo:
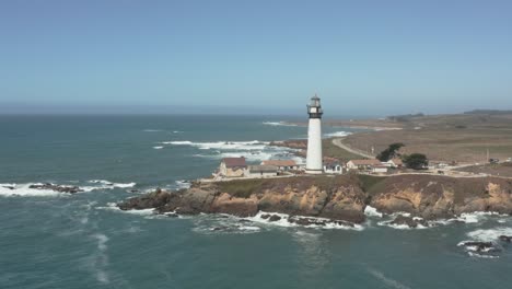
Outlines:
[[310,124],[307,126],[306,173],[322,174],[324,172],[322,162],[322,115],[324,112],[316,94],[311,97],[307,114],[310,115]]

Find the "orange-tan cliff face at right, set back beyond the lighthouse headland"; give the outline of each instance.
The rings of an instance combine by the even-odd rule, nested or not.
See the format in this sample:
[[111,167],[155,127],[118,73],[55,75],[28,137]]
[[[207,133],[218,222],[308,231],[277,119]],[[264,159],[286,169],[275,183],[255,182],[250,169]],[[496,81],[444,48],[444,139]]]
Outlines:
[[498,177],[393,176],[369,194],[369,205],[383,212],[406,211],[424,219],[474,211],[512,213],[512,180]]

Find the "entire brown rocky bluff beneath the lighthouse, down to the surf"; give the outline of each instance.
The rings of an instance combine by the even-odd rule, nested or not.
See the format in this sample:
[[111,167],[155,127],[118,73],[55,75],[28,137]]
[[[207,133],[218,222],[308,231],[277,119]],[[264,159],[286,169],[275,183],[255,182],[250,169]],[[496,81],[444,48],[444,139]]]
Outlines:
[[384,213],[408,212],[434,220],[475,211],[511,215],[512,180],[421,174],[233,180],[193,183],[176,192],[156,189],[117,206],[121,210],[154,208],[156,213],[238,217],[268,211],[351,223],[363,222],[364,209],[371,206]]

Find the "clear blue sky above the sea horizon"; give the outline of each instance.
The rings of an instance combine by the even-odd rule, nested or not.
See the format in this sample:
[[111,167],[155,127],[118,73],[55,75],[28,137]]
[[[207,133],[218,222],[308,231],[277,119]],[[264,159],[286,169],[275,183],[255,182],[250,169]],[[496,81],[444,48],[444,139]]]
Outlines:
[[0,113],[512,109],[512,1],[0,1]]

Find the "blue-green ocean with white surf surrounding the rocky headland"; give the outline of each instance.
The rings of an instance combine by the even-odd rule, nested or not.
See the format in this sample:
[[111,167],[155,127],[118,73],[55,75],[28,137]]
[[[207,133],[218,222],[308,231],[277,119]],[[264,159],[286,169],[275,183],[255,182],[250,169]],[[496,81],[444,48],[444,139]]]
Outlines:
[[[278,116],[0,116],[0,288],[508,288],[512,218],[427,229],[304,228],[218,215],[170,218],[114,204],[208,176],[223,157],[296,158]],[[325,136],[353,132],[324,127]],[[300,160],[298,160],[300,161]],[[69,195],[36,183],[77,185]]]

